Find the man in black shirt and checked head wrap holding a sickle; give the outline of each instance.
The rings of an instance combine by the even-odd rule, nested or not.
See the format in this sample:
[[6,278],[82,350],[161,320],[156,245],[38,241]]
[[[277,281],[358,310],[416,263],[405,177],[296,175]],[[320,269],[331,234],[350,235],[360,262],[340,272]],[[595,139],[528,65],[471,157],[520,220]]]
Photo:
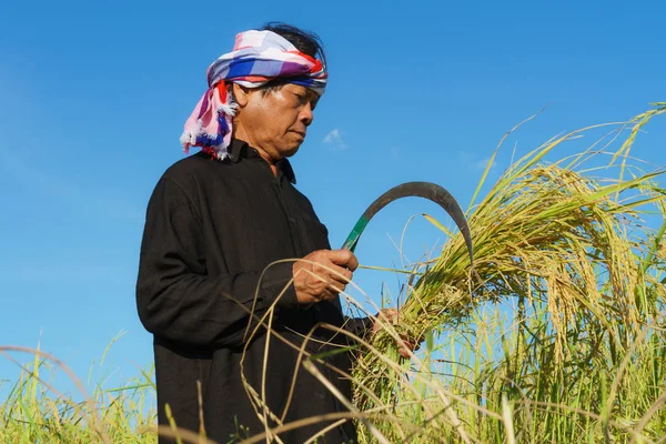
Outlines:
[[[349,251],[331,250],[287,160],[305,139],[326,81],[319,38],[282,23],[240,33],[208,70],[210,88],[181,137],[185,152],[201,151],[159,180],[141,245],[137,301],[154,336],[161,425],[170,423],[169,404],[179,427],[204,426],[226,443],[264,432],[262,398],[270,426],[345,412],[299,364],[302,344],[325,354],[349,343],[317,324],[359,336],[372,325],[343,316],[339,293],[359,263]],[[271,310],[263,325],[271,322],[275,334],[260,324]],[[349,373],[350,354],[324,360],[330,365],[317,369],[349,400],[350,382],[331,365]],[[302,443],[333,422],[280,437]],[[355,436],[347,421],[319,442]]]

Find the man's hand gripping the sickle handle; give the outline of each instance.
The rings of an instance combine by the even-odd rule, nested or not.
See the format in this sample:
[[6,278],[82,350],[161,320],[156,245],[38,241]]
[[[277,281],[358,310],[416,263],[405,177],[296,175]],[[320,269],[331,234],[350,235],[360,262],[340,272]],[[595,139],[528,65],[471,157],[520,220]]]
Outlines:
[[356,256],[347,250],[319,250],[294,262],[299,303],[313,304],[337,297],[357,266]]

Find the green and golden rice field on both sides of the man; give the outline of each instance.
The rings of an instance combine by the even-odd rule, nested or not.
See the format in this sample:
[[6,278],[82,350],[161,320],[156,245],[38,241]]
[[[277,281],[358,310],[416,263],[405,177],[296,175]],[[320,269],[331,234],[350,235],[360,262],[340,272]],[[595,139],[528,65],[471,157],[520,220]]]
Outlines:
[[[431,219],[447,241],[406,270],[402,322],[357,339],[354,396],[341,401],[361,443],[666,442],[664,169],[630,155],[663,113],[655,103],[556,137],[490,184],[495,151],[467,209],[473,266],[460,233]],[[586,150],[557,157],[599,128]],[[397,354],[403,339],[422,344],[410,360]],[[48,384],[63,364],[33,354],[0,405],[0,442],[157,442],[150,370],[79,402]],[[316,375],[315,360],[303,365]],[[160,433],[206,442],[175,424]]]

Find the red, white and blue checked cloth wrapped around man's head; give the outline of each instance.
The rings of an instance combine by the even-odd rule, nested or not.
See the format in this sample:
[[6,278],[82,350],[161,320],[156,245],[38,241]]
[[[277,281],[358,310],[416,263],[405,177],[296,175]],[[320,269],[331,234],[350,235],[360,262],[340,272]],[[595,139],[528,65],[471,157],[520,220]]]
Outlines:
[[185,122],[180,141],[185,153],[190,147],[201,147],[220,160],[228,155],[236,112],[226,92],[230,82],[259,88],[284,79],[321,95],[329,77],[320,60],[302,53],[282,36],[255,30],[239,33],[232,52],[215,60],[206,74],[209,89]]

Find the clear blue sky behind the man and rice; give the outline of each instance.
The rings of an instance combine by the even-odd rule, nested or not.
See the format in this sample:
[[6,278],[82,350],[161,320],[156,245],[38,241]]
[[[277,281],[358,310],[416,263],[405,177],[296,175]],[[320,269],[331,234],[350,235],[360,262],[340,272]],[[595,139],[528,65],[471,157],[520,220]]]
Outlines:
[[[285,4],[3,6],[0,344],[34,346],[41,335],[44,351],[85,377],[127,331],[108,369],[121,377],[150,364],[134,306],[147,201],[183,157],[178,139],[208,65],[236,32],[266,21],[314,30],[327,50],[330,87],[293,164],[334,246],[372,200],[405,181],[440,183],[466,209],[502,135],[544,107],[507,140],[491,181],[514,149],[666,100],[660,0]],[[634,154],[666,165],[666,120],[647,130]],[[361,239],[361,263],[398,264],[392,240],[421,212],[447,222],[430,202],[396,202]],[[443,240],[417,219],[405,252],[415,260]],[[356,273],[375,301],[396,280]],[[0,359],[0,380],[17,375]]]

